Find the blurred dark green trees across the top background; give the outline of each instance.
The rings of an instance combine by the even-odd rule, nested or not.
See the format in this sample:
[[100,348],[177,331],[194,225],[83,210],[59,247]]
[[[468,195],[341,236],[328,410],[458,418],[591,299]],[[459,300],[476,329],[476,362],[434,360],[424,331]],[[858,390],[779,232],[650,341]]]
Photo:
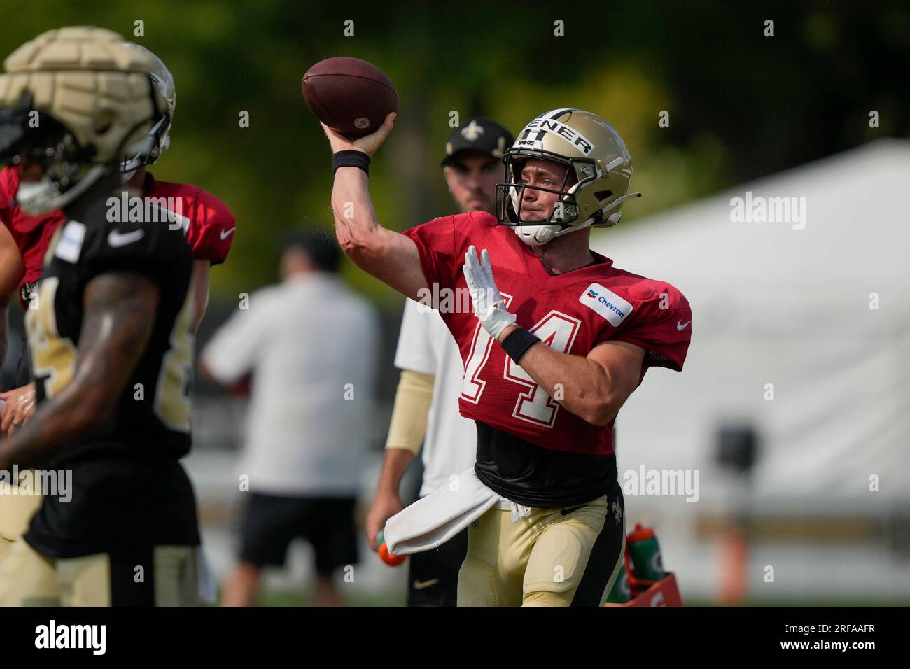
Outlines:
[[[439,171],[450,112],[514,130],[579,106],[626,138],[635,218],[874,137],[910,134],[910,5],[656,3],[565,5],[39,0],[0,24],[11,52],[60,25],[103,25],[148,46],[177,81],[173,146],[154,168],[224,199],[235,248],[215,299],[276,279],[288,229],[329,227],[329,148],[299,91],[329,56],[375,63],[401,112],[372,171],[380,220],[404,229],[451,210]],[[354,36],[343,34],[354,22]],[[774,22],[774,36],[764,22]],[[554,35],[560,20],[564,36]],[[141,21],[143,36],[134,36]],[[881,127],[868,126],[871,109]],[[250,125],[240,127],[241,111]],[[659,127],[669,113],[670,126]],[[359,289],[400,302],[362,272]]]

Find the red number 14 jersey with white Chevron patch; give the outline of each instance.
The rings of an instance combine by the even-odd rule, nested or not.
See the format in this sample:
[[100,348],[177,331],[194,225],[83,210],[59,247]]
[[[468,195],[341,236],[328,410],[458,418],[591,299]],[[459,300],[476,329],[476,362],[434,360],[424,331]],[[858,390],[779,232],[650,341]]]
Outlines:
[[584,357],[605,341],[627,341],[646,351],[639,383],[650,367],[682,370],[692,309],[669,283],[617,269],[593,251],[597,264],[551,276],[512,228],[485,212],[437,218],[404,234],[417,244],[423,274],[439,291],[440,315],[458,343],[466,418],[546,449],[613,453],[613,421],[597,427],[563,409],[480,327],[462,271],[471,244],[490,252],[493,279],[518,325],[551,349]]

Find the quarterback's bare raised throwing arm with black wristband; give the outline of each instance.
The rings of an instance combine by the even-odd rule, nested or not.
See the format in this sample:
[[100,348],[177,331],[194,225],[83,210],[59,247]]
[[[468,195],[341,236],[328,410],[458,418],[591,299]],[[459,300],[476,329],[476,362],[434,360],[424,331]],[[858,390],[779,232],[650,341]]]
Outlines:
[[[350,140],[322,124],[333,154],[341,151],[339,162],[369,165],[369,157],[389,137],[395,114],[389,114],[379,130],[366,137]],[[347,157],[347,159],[345,159]],[[335,213],[335,234],[339,245],[354,264],[387,283],[402,295],[418,299],[418,291],[427,288],[420,269],[417,245],[405,235],[383,228],[369,198],[369,177],[361,167],[338,167],[332,188],[332,209]]]

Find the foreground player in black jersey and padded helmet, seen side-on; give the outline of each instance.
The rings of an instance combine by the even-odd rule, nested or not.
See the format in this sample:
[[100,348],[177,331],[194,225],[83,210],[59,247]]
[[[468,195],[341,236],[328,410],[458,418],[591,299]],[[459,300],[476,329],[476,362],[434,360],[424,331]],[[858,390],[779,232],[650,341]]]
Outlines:
[[0,157],[22,168],[17,201],[29,214],[62,208],[66,222],[26,317],[38,410],[0,441],[0,470],[71,485],[43,491],[0,566],[0,604],[197,603],[196,502],[179,464],[193,257],[184,226],[147,211],[111,216],[109,201],[141,201],[124,190],[120,161],[148,146],[167,111],[156,64],[115,33],[71,27],[5,67]]

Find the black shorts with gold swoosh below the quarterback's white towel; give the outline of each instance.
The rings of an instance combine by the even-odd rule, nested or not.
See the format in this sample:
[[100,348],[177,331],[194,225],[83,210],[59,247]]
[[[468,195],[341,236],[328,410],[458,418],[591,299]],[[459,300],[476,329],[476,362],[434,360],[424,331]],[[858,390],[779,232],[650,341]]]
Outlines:
[[410,555],[408,605],[457,605],[458,572],[467,554],[468,529],[465,528],[438,549]]

